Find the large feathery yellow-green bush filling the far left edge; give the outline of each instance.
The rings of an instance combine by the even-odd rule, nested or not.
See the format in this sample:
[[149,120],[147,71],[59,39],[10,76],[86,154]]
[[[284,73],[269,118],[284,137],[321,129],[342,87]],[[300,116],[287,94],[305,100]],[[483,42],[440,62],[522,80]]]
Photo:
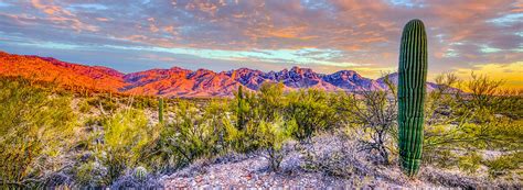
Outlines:
[[75,115],[70,96],[53,96],[25,79],[0,80],[0,183],[42,182],[67,146]]

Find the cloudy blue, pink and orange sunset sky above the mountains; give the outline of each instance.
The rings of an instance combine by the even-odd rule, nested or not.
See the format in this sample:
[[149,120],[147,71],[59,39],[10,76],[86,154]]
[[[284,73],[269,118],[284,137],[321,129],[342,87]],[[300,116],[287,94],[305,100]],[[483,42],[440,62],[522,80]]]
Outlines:
[[0,0],[0,51],[151,68],[397,69],[424,21],[429,79],[471,71],[523,89],[523,0]]

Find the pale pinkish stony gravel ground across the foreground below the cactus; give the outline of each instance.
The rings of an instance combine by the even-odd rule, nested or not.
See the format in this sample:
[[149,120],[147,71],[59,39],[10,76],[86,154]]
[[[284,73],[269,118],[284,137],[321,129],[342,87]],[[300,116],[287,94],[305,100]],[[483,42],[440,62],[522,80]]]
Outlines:
[[[511,182],[468,176],[459,170],[421,167],[417,179],[402,174],[397,163],[373,164],[369,153],[355,150],[346,136],[324,134],[310,144],[289,143],[281,169],[274,172],[262,152],[249,155],[228,154],[215,159],[198,160],[160,182],[166,189],[270,188],[270,189],[521,189],[521,180]],[[312,155],[312,156],[311,156]]]

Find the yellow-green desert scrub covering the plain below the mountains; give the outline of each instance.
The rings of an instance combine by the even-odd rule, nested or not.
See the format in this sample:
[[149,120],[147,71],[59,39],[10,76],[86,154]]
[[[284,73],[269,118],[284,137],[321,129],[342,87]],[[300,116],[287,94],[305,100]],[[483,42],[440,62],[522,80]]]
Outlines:
[[[384,82],[387,88],[357,93],[286,92],[282,83],[264,83],[256,92],[239,88],[231,99],[163,99],[159,105],[156,97],[74,93],[4,77],[0,185],[158,188],[195,163],[253,154],[267,159],[267,172],[285,176],[289,153],[301,155],[305,172],[372,176],[351,155],[372,167],[398,167],[396,87]],[[419,179],[521,188],[523,93],[477,75],[467,81],[441,75],[436,83],[425,107],[421,168],[430,169]],[[354,153],[321,154],[313,147],[325,138]]]

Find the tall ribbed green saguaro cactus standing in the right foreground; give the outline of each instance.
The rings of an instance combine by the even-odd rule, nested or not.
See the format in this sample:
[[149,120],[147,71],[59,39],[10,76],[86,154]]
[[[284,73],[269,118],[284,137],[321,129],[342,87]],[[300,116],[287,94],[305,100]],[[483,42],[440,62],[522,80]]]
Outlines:
[[404,172],[414,177],[421,163],[427,80],[427,34],[420,20],[403,29],[398,72],[399,160]]

